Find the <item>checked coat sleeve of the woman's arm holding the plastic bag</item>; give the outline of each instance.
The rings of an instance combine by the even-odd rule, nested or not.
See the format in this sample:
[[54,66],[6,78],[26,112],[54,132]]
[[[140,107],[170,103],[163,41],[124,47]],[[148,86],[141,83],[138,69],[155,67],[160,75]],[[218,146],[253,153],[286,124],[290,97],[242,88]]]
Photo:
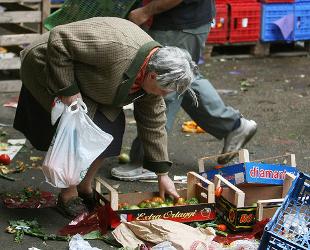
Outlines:
[[46,74],[49,91],[55,96],[72,96],[79,92],[74,77],[74,58],[70,39],[61,30],[51,31],[47,45]]

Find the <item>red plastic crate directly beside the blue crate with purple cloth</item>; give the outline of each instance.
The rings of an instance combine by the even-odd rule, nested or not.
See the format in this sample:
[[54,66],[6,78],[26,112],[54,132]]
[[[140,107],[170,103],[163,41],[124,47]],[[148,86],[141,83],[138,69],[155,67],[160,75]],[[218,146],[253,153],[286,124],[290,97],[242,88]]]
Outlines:
[[256,42],[260,37],[260,3],[231,3],[229,42]]

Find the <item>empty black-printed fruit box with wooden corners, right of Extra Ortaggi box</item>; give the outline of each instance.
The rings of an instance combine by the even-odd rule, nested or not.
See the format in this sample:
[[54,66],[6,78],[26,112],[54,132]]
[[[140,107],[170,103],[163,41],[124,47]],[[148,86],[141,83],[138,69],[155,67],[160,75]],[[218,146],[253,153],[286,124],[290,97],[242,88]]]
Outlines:
[[[215,188],[224,185],[222,195],[216,199],[216,211],[232,231],[251,230],[257,220],[273,216],[294,178],[286,175],[281,186],[242,184],[236,187],[221,175],[215,175]],[[269,205],[263,205],[267,203]]]

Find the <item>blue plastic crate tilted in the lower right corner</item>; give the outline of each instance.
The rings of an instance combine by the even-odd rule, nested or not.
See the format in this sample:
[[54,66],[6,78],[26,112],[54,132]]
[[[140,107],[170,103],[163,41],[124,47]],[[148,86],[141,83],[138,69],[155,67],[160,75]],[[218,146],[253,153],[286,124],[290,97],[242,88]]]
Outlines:
[[300,173],[264,230],[259,250],[310,249],[310,176]]

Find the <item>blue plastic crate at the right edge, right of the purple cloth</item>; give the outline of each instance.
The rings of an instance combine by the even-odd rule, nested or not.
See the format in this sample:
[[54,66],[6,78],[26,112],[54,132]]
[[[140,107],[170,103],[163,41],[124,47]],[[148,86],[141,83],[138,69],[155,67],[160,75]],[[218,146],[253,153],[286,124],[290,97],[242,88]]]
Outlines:
[[294,40],[310,40],[310,2],[295,4]]

